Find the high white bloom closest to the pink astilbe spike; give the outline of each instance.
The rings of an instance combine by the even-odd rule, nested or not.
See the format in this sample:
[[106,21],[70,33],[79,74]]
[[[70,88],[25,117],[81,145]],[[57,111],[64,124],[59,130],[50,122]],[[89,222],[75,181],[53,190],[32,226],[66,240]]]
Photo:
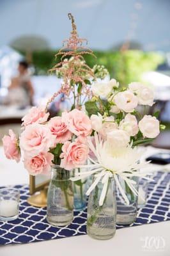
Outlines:
[[102,99],[107,99],[112,92],[112,84],[110,83],[93,83],[91,86],[94,96],[99,96]]

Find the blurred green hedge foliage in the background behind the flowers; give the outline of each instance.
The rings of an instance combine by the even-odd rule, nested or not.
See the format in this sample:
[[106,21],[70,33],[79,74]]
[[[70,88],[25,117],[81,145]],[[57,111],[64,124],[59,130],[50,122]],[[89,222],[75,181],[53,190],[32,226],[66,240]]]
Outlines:
[[[33,65],[36,74],[49,74],[48,70],[59,62],[55,60],[56,51],[35,51],[33,52]],[[89,67],[95,64],[104,65],[109,71],[111,78],[114,77],[121,84],[128,84],[132,81],[140,81],[141,74],[155,70],[158,65],[164,62],[164,57],[158,52],[143,52],[130,50],[125,52],[94,51],[97,59],[92,56],[84,56]]]

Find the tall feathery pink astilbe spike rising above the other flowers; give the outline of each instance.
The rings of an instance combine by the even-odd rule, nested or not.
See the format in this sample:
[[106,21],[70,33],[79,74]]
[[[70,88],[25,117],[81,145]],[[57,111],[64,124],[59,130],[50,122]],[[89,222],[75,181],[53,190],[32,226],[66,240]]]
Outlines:
[[[75,93],[75,86],[77,84],[81,84],[81,86],[79,87],[79,92],[74,95],[75,108],[80,108],[81,95],[88,97],[91,97],[92,95],[89,83],[86,83],[86,81],[89,77],[93,77],[93,79],[95,79],[95,74],[93,70],[86,65],[83,56],[84,54],[95,55],[88,47],[83,46],[83,43],[86,42],[87,44],[88,41],[85,38],[79,38],[72,13],[68,13],[68,18],[72,21],[70,38],[63,41],[63,47],[56,54],[56,57],[60,56],[61,61],[49,70],[61,72],[63,74],[63,84],[61,85],[59,92],[54,93],[54,95],[52,95],[48,100],[46,111],[50,102],[52,102],[60,93],[65,93],[66,96],[69,96],[71,92]],[[67,56],[71,58],[66,60],[65,58]],[[67,65],[67,68],[65,68],[65,65]]]

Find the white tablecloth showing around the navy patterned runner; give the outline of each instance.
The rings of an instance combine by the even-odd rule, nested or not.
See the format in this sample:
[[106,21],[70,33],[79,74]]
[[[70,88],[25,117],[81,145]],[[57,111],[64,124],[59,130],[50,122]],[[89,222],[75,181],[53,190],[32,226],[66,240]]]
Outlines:
[[[148,148],[146,156],[157,152],[158,149]],[[3,149],[0,147],[0,186],[27,184],[29,175],[22,163],[5,159]],[[162,166],[161,166],[162,168]],[[154,166],[154,170],[161,170]],[[31,244],[15,244],[0,247],[1,256],[19,255],[55,255],[61,256],[102,256],[105,252],[109,255],[131,256],[169,256],[170,255],[170,221],[141,225],[138,227],[121,228],[116,230],[116,235],[108,241],[97,241],[91,237],[77,236],[55,239]]]

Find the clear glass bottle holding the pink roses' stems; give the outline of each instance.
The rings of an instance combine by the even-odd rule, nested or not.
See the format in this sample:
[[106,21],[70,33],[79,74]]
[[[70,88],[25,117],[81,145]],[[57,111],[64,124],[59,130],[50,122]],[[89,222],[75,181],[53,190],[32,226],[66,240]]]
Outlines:
[[47,193],[47,221],[53,226],[65,226],[73,220],[73,189],[70,172],[52,166]]

